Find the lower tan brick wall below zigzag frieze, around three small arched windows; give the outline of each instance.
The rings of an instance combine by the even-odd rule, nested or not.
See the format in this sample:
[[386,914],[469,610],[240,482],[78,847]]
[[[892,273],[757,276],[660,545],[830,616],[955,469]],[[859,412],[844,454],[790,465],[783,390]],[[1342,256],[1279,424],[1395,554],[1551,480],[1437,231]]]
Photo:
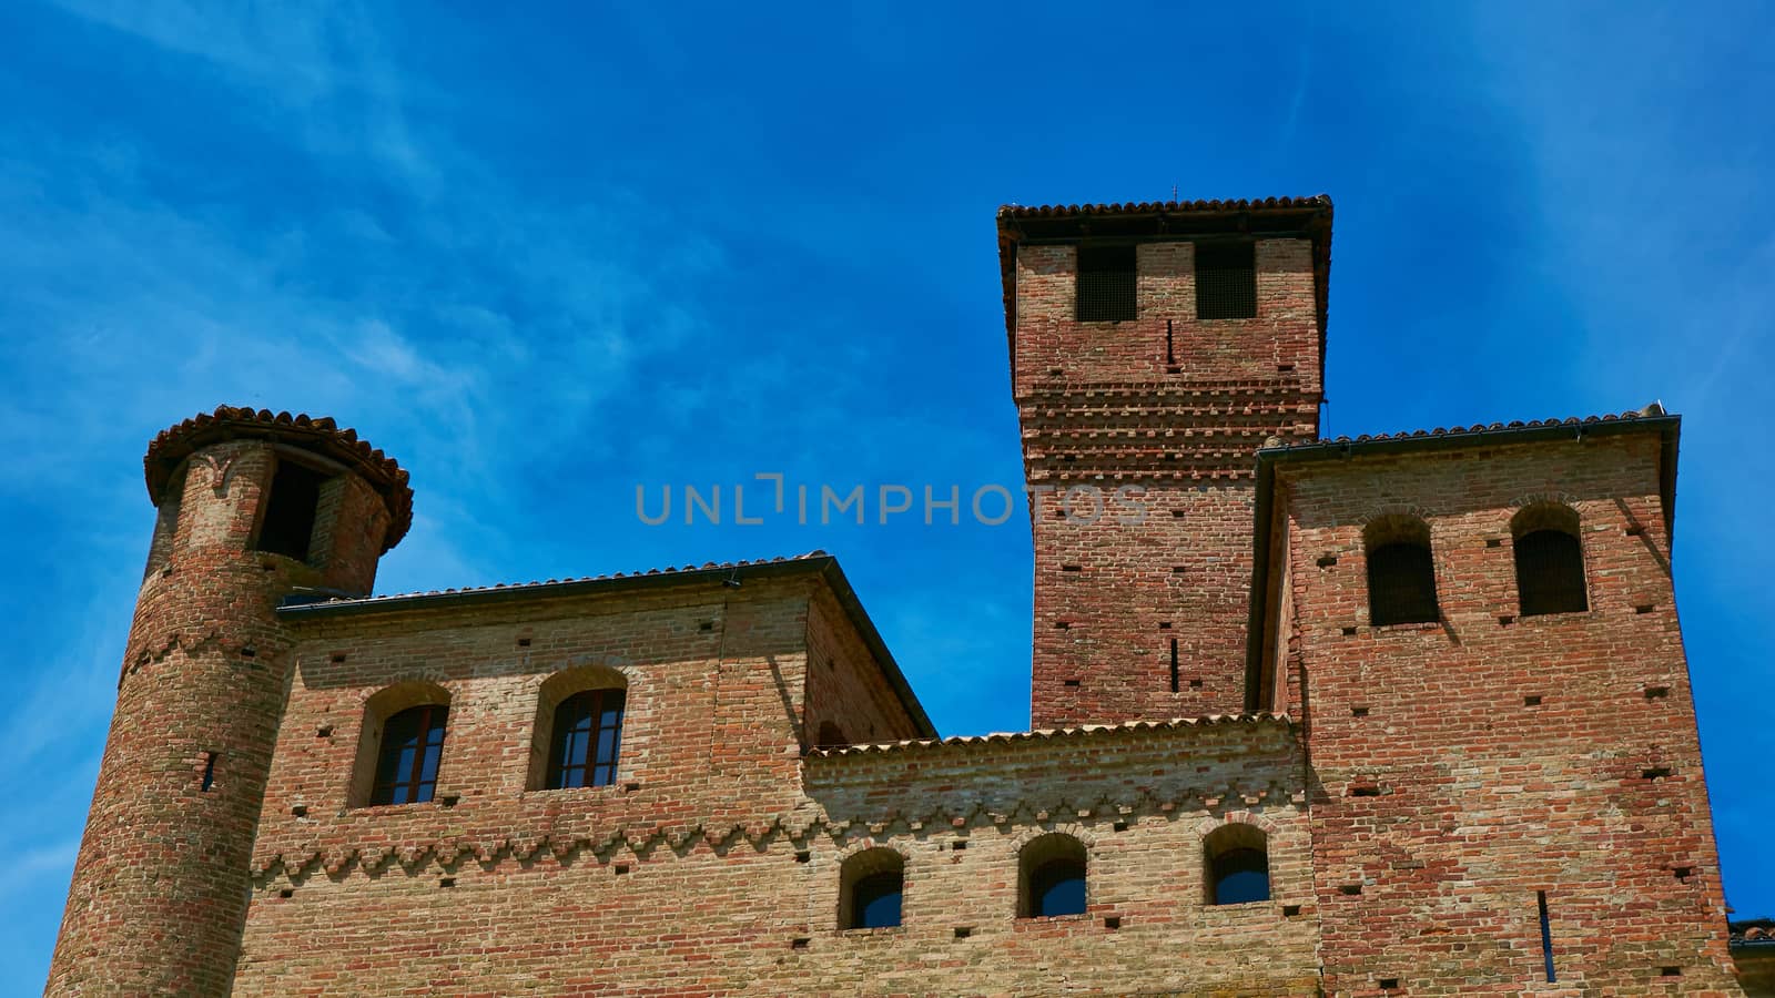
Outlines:
[[[808,758],[806,792],[737,833],[698,820],[721,801],[694,788],[674,831],[593,806],[589,835],[444,861],[406,829],[387,861],[264,877],[236,993],[1310,993],[1294,744],[1237,721],[850,749]],[[435,835],[456,817],[431,813]],[[1274,900],[1203,904],[1202,836],[1225,822],[1269,836]],[[1017,849],[1054,829],[1088,847],[1090,909],[1019,920]],[[843,858],[875,845],[905,856],[903,925],[840,931]]]

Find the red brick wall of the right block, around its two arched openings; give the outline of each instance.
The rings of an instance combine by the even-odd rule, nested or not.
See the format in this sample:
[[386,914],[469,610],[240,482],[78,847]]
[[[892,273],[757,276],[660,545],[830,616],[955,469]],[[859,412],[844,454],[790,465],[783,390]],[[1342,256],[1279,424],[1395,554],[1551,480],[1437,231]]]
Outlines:
[[[1328,991],[1550,989],[1544,890],[1558,987],[1732,993],[1658,455],[1647,433],[1278,467]],[[1511,517],[1544,499],[1580,515],[1589,613],[1518,618]],[[1369,625],[1363,524],[1397,511],[1429,524],[1441,623]]]

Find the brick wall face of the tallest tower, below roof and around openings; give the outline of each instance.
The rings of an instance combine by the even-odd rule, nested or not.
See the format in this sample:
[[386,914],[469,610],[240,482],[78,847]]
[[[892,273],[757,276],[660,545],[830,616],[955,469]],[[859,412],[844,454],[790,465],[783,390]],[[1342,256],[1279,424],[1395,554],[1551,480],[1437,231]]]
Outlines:
[[[1051,490],[1031,506],[1033,723],[1239,712],[1255,451],[1319,426],[1312,243],[1257,243],[1253,320],[1198,321],[1193,243],[1156,242],[1138,249],[1138,318],[1079,323],[1074,259],[1017,249],[1024,467]],[[1061,519],[1077,487],[1102,495],[1072,503],[1095,522]],[[1116,503],[1124,487],[1138,492]]]

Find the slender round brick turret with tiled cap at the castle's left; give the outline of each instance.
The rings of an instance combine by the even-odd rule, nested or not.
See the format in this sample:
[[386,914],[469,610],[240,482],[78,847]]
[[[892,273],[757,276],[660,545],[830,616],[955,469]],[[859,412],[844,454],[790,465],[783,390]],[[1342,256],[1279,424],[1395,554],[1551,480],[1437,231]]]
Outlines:
[[406,472],[332,419],[222,407],[144,467],[160,515],[51,994],[229,991],[289,678],[277,606],[369,593],[412,524]]

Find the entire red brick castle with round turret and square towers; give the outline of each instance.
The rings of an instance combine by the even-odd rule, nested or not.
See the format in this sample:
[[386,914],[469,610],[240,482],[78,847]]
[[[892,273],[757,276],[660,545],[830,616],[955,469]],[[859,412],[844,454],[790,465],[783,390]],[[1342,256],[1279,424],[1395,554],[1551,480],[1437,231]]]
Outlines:
[[48,991],[1763,993],[1676,416],[1321,440],[1324,197],[998,234],[1031,732],[939,739],[820,552],[375,597],[406,472],[224,407],[147,451]]

